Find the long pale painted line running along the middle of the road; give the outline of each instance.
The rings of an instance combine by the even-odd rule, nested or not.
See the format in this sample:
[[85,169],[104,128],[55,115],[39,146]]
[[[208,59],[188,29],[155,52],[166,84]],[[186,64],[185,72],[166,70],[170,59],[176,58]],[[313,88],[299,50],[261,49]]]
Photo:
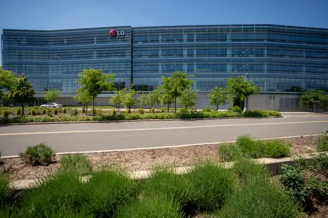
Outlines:
[[92,132],[128,132],[128,131],[149,131],[149,130],[169,130],[169,129],[212,128],[212,127],[227,127],[227,126],[283,125],[283,124],[320,123],[320,122],[328,122],[328,120],[279,122],[279,123],[246,123],[246,124],[228,124],[228,125],[178,126],[178,127],[140,128],[140,129],[100,129],[100,130],[74,130],[74,131],[52,131],[52,132],[20,132],[20,133],[1,133],[0,136],[92,133]]

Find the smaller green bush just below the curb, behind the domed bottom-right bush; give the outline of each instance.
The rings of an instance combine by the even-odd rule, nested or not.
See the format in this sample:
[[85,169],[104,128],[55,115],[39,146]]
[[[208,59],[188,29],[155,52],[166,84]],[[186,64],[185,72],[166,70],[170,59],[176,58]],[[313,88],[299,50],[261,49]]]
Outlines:
[[262,163],[241,158],[232,166],[232,171],[236,174],[240,184],[245,185],[259,179],[269,179],[271,172]]

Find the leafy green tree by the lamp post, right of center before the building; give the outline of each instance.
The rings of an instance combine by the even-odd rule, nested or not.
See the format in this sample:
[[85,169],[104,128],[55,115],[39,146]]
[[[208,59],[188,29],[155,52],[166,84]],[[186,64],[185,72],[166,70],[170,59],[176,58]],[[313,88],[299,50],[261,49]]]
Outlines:
[[248,96],[258,94],[258,88],[253,82],[244,80],[245,76],[227,78],[227,91],[234,106],[242,108],[242,101]]

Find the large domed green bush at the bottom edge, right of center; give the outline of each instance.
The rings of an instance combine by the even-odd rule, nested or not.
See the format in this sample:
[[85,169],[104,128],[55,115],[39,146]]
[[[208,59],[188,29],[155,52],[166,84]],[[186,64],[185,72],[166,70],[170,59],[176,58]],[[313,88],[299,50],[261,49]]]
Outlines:
[[216,218],[299,218],[300,206],[267,180],[258,179],[236,190]]

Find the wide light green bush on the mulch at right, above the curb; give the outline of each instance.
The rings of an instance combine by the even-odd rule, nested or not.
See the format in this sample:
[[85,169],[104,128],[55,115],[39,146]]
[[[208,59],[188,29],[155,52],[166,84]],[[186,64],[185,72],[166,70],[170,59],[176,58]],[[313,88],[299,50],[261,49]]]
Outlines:
[[249,158],[282,158],[290,153],[290,146],[282,140],[255,140],[252,136],[242,135],[236,145],[243,155]]

